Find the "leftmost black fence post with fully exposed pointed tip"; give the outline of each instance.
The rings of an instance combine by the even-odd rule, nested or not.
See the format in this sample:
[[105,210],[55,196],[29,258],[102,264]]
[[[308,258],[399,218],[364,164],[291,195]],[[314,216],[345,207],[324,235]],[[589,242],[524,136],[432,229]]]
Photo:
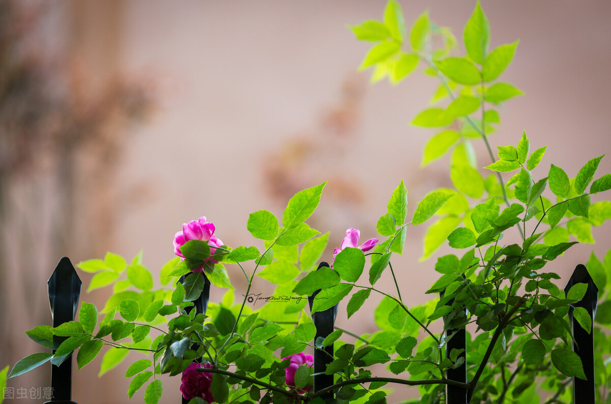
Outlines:
[[[53,326],[57,327],[75,319],[81,295],[81,279],[68,257],[59,260],[47,282]],[[67,337],[53,337],[59,345]],[[72,354],[58,366],[51,365],[51,401],[46,403],[76,404],[72,399]],[[45,403],[45,404],[46,404]]]

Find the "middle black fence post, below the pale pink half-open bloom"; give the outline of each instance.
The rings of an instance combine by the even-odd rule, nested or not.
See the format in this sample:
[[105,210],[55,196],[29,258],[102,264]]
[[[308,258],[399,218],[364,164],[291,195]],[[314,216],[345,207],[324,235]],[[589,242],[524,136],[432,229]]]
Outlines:
[[[320,270],[320,268],[324,267],[328,268],[329,264],[326,262],[321,262],[320,265],[318,265],[318,268],[316,268],[316,270]],[[314,298],[316,297],[316,295],[318,295],[318,292],[320,292],[320,289],[316,290],[316,292],[312,293],[312,296],[308,297],[310,312],[312,312],[312,304],[314,303]],[[331,332],[333,332],[335,325],[335,317],[337,317],[337,307],[338,304],[335,304],[335,306],[330,307],[329,309],[323,310],[321,312],[315,312],[314,314],[312,314],[312,321],[316,326],[316,336],[314,337],[314,342],[316,342],[318,337],[326,338],[327,336],[329,336],[329,334],[331,334]],[[327,365],[333,361],[333,344],[329,345],[326,348],[323,348],[323,350],[320,350],[318,348],[314,350],[314,392],[324,390],[327,387],[333,385],[334,375],[324,374],[325,370],[327,369]],[[333,392],[329,391],[321,395],[321,398],[323,398],[325,402],[329,402],[329,400],[334,399]]]

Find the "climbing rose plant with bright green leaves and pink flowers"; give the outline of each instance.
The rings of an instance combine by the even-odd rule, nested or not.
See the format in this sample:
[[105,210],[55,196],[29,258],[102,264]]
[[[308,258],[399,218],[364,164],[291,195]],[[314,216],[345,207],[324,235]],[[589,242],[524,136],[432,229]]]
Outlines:
[[[405,386],[417,386],[420,392],[420,398],[406,402],[441,403],[447,384],[467,389],[471,403],[571,402],[571,378],[585,375],[570,349],[573,334],[567,318],[586,286],[576,284],[564,296],[557,284],[560,277],[547,265],[577,242],[593,243],[591,228],[611,217],[611,202],[592,200],[611,189],[611,174],[596,174],[603,156],[585,163],[571,178],[560,166],[543,166],[546,147],[531,150],[525,133],[498,146],[496,155],[492,152],[489,135],[500,123],[499,106],[521,94],[499,81],[518,42],[489,50],[489,23],[479,4],[464,28],[464,56],[456,56],[452,32],[434,24],[427,13],[408,32],[394,0],[383,20],[351,29],[357,39],[373,45],[361,65],[373,68],[372,81],[400,83],[419,65],[439,80],[434,105],[412,124],[438,128],[425,147],[423,164],[450,155],[453,187],[428,193],[408,218],[407,189],[401,182],[376,222],[380,240],[371,238],[359,246],[360,232],[350,227],[332,255],[333,267],[318,271],[313,269],[327,259],[323,254],[329,233],[320,235],[305,221],[318,206],[324,183],[295,194],[280,219],[268,210],[251,213],[246,229],[256,246],[224,245],[205,217],[184,224],[174,238],[178,256],[161,268],[159,288],[140,256],[126,262],[109,253],[104,260],[82,262],[81,270],[95,273],[89,289],[112,285],[112,295],[101,309],[82,303],[77,321],[27,331],[56,352],[24,358],[9,377],[47,361],[59,364],[77,350],[80,369],[106,345],[102,373],[130,350],[148,353],[125,374],[132,379],[130,398],[146,384],[147,404],[159,401],[164,373],[182,375],[181,392],[191,403],[321,403],[323,392],[310,388],[312,360],[305,352],[334,343],[326,373],[334,375],[328,391],[337,403],[382,403],[390,387]],[[475,141],[488,150],[483,169]],[[454,253],[431,265],[439,273],[428,290],[431,300],[408,307],[395,278],[393,254],[402,254],[409,226],[430,219],[423,259],[446,240]],[[237,302],[226,265],[236,268],[232,277],[244,276],[247,282],[244,298]],[[611,375],[606,329],[611,324],[611,253],[602,261],[592,254],[587,267],[601,299],[596,324],[591,326],[590,315],[579,307],[573,315],[597,346],[597,401],[611,402],[604,387]],[[185,281],[177,282],[180,276]],[[312,312],[346,299],[340,307],[348,318],[371,295],[381,295],[373,313],[378,331],[359,336],[337,329],[314,340],[316,327],[306,299],[266,303],[257,310],[246,304],[257,276],[276,285],[274,295],[310,296],[320,290]],[[379,288],[383,276],[393,279],[392,290]],[[191,307],[206,280],[228,292],[202,314]],[[433,331],[439,329],[431,328],[435,322],[443,323],[443,331]],[[446,356],[452,335],[445,332],[464,326],[469,327],[466,352]],[[56,346],[54,336],[66,339]],[[448,380],[448,370],[465,361],[467,383]],[[374,375],[371,366],[376,364],[397,377]]]

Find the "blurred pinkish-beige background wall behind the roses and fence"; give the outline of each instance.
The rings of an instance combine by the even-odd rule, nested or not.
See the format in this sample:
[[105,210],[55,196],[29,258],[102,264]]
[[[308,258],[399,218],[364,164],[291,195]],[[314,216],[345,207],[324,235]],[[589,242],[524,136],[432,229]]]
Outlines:
[[[400,2],[408,25],[428,9],[459,39],[475,6]],[[436,81],[419,69],[397,87],[370,86],[370,73],[357,72],[368,45],[346,24],[381,19],[384,4],[0,0],[0,367],[37,351],[23,331],[50,323],[46,280],[64,255],[77,263],[143,250],[157,272],[183,222],[207,216],[225,244],[252,243],[248,213],[281,215],[293,193],[326,180],[309,222],[331,231],[332,248],[349,226],[375,237],[401,179],[410,215],[428,191],[450,186],[447,158],[420,167],[434,131],[409,125]],[[611,150],[611,4],[482,7],[493,47],[521,40],[504,81],[525,92],[503,106],[492,144],[517,144],[526,130],[531,150],[549,145],[535,175],[554,163],[573,177]],[[425,226],[409,229],[394,264],[410,305],[425,301],[434,257],[447,253],[419,262]],[[592,249],[604,255],[611,240],[604,227],[594,235],[598,244],[574,247],[549,270],[566,279]],[[81,301],[103,304],[108,291],[85,293],[90,275],[81,277]],[[373,330],[370,312],[355,317],[343,312],[338,325]],[[73,400],[127,402],[125,366],[98,379],[99,364],[75,373]],[[18,402],[42,402],[31,388],[48,378],[47,366],[9,387],[28,391]],[[164,382],[164,403],[180,399],[179,383]]]

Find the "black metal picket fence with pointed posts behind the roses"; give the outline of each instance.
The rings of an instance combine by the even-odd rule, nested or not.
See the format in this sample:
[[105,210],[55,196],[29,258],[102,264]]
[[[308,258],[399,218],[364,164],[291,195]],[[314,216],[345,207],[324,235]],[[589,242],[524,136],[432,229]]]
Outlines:
[[[326,262],[321,263],[318,269],[329,266]],[[181,278],[181,281],[183,278]],[[592,321],[596,314],[596,304],[598,303],[598,288],[594,284],[588,270],[584,265],[577,265],[573,275],[569,279],[565,287],[565,293],[577,283],[585,283],[588,285],[587,293],[584,298],[574,307],[584,307]],[[64,257],[57,264],[53,275],[48,281],[49,302],[51,303],[51,315],[53,316],[53,326],[59,326],[62,323],[75,319],[76,310],[78,308],[79,295],[81,293],[81,279],[76,274],[75,268],[67,257]],[[310,309],[312,309],[313,298],[316,296],[313,293],[309,297]],[[206,279],[205,287],[202,294],[196,299],[194,308],[198,313],[205,313],[208,307],[210,298],[210,281]],[[448,303],[451,304],[451,303]],[[312,321],[316,326],[315,340],[319,337],[327,337],[334,331],[335,317],[337,315],[336,304],[330,309],[322,312],[316,312],[312,315]],[[189,307],[192,309],[193,307]],[[593,334],[586,332],[573,318],[573,309],[569,311],[569,320],[573,329],[573,350],[579,355],[584,364],[584,372],[587,380],[574,378],[573,380],[573,402],[574,404],[593,404],[595,403],[595,383],[594,383],[594,340]],[[593,325],[591,325],[593,326]],[[465,329],[453,329],[447,331],[448,336],[452,334],[452,338],[446,344],[446,353],[449,357],[453,349],[464,350],[461,355],[466,354],[466,331]],[[56,343],[61,343],[66,337],[56,337]],[[313,391],[319,392],[334,383],[334,375],[326,375],[327,364],[333,360],[333,345],[324,348],[326,353],[316,348],[314,350],[314,386]],[[329,353],[331,355],[329,355]],[[76,404],[71,401],[71,382],[72,382],[72,361],[68,358],[59,367],[51,365],[51,391],[53,398],[46,403],[55,404]],[[467,381],[467,365],[463,362],[457,369],[449,369],[447,372],[448,380],[466,383]],[[447,404],[465,404],[467,402],[467,389],[462,387],[447,385],[446,388],[446,403]],[[327,402],[334,398],[332,392],[327,392],[322,396]],[[45,404],[46,404],[45,403]]]

